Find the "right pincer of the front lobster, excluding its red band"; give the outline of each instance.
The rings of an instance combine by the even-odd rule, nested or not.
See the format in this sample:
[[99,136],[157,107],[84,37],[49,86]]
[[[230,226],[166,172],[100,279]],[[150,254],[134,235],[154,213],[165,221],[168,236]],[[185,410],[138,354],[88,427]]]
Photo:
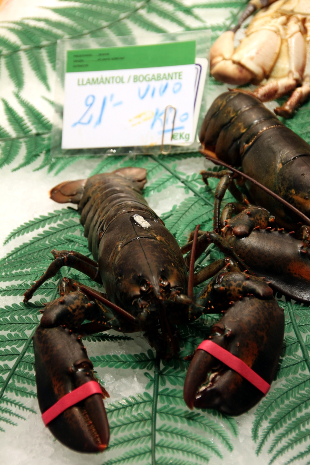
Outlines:
[[[273,297],[249,296],[231,304],[212,327],[209,340],[225,349],[225,353],[230,352],[234,359],[240,359],[263,383],[270,385],[281,352],[283,311]],[[210,408],[226,415],[241,415],[263,395],[223,361],[204,350],[196,351],[184,384],[184,400],[189,408]]]

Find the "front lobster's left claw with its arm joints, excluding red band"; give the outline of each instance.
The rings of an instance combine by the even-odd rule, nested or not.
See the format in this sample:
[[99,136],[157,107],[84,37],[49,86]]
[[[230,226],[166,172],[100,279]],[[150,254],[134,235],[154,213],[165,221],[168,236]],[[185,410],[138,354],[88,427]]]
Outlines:
[[[72,280],[61,281],[61,297],[46,305],[33,337],[42,413],[81,385],[98,382],[81,336],[77,337],[73,329],[84,319],[104,319],[102,308],[97,301],[89,301],[83,292],[70,292],[74,287]],[[103,397],[108,396],[103,387],[101,390]],[[100,394],[67,408],[47,426],[61,443],[78,452],[100,452],[109,442],[109,425]]]

